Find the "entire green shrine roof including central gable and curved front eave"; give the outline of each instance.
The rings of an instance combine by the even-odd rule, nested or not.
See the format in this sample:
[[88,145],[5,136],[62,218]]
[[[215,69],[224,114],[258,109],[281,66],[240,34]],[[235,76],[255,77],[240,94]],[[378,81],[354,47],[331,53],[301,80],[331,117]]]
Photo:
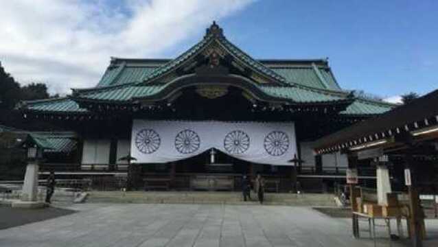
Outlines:
[[[97,86],[73,89],[73,95],[59,99],[25,102],[21,109],[36,113],[92,114],[80,108],[81,102],[98,104],[136,104],[137,99],[162,99],[184,76],[196,75],[196,66],[211,62],[211,53],[218,53],[226,66],[242,71],[249,88],[261,99],[287,104],[344,104],[353,102],[349,91],[336,82],[327,59],[256,60],[233,45],[213,23],[204,38],[175,59],[111,58]],[[187,72],[191,71],[191,72]],[[195,71],[195,72],[193,72]],[[248,72],[249,71],[249,72]],[[192,74],[190,74],[192,73]],[[194,73],[194,74],[193,74]],[[231,73],[230,73],[231,75]],[[234,74],[233,74],[234,75]],[[217,78],[215,78],[216,80]],[[356,100],[343,115],[380,114],[393,106]]]

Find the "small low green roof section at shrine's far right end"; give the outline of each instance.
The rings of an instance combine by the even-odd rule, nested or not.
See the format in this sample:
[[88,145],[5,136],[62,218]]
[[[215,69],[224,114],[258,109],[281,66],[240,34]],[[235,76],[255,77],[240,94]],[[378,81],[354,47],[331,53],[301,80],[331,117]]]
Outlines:
[[353,104],[341,112],[342,115],[376,115],[386,113],[394,108],[394,104],[377,102],[369,99],[356,99]]

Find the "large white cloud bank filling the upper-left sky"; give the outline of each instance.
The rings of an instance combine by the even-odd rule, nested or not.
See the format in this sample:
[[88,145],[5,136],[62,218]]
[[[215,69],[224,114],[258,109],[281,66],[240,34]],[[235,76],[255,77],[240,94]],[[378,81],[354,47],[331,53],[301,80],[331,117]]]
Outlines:
[[14,0],[0,8],[0,61],[52,93],[97,84],[111,56],[157,57],[253,0]]

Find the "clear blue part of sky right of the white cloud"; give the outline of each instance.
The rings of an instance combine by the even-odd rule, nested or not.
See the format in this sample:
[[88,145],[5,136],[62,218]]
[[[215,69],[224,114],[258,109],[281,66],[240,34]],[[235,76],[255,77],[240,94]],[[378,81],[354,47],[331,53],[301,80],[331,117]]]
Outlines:
[[345,89],[438,88],[438,1],[256,1],[220,25],[255,58],[328,57]]

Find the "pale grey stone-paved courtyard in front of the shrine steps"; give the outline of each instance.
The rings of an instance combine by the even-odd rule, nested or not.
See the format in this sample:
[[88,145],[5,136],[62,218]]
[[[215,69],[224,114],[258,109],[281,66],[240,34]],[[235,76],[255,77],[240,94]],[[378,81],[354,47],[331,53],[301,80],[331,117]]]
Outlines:
[[[351,238],[348,220],[306,207],[78,204],[71,209],[80,212],[1,230],[0,246],[373,246],[369,239]],[[379,246],[388,244],[380,240]]]

